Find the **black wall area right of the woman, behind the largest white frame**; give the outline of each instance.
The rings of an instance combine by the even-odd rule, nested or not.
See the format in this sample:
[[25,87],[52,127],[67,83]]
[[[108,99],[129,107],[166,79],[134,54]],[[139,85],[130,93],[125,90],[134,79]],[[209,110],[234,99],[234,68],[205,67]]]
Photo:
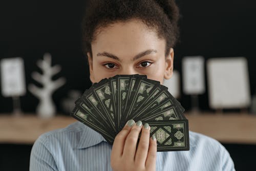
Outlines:
[[[251,94],[256,94],[256,2],[254,1],[177,1],[181,14],[181,42],[176,47],[175,67],[180,71],[181,58],[202,55],[215,57],[244,56],[248,60]],[[206,72],[205,72],[206,73]],[[206,79],[205,79],[206,80]],[[181,103],[190,107],[190,97],[183,94]],[[208,110],[206,93],[199,105]]]

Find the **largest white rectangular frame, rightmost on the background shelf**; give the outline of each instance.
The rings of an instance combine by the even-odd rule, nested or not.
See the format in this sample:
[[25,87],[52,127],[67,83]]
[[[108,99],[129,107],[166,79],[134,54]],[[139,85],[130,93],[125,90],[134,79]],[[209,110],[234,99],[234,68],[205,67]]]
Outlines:
[[208,59],[207,75],[210,108],[236,109],[250,105],[248,63],[245,57]]

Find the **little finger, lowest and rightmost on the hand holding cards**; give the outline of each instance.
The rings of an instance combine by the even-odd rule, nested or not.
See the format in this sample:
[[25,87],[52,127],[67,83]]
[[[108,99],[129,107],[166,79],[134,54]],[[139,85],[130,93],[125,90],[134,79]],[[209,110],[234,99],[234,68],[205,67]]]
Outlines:
[[157,158],[157,140],[155,135],[150,139],[150,147],[148,148],[148,154],[146,158],[146,168],[156,168]]

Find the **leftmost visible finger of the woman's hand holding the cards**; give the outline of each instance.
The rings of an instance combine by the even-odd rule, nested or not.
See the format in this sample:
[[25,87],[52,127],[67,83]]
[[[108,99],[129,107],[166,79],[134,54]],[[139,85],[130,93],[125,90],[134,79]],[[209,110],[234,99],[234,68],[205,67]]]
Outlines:
[[127,121],[123,129],[116,135],[113,143],[113,147],[112,147],[112,154],[116,155],[116,157],[122,156],[125,139],[127,135],[130,133],[132,126],[134,124],[135,124],[135,121],[133,119]]

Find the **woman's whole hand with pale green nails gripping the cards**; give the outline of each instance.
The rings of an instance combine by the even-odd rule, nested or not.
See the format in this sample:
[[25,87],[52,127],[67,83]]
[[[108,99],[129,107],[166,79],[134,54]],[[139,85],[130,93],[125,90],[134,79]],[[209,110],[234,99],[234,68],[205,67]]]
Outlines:
[[150,138],[150,126],[147,123],[142,126],[141,121],[135,123],[129,120],[114,140],[111,167],[118,171],[156,170],[156,155],[157,142],[155,137]]

